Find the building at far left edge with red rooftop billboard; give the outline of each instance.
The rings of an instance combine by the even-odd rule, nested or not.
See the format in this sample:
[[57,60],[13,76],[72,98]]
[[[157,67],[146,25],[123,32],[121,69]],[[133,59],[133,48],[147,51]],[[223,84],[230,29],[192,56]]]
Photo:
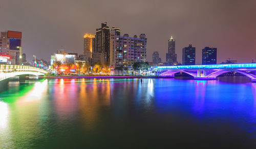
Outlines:
[[0,55],[9,56],[11,64],[22,64],[22,32],[1,32]]

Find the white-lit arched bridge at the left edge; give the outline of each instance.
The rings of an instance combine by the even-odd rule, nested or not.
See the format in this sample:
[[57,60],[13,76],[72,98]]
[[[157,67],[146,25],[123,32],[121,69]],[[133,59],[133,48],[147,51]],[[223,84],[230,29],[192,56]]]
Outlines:
[[31,66],[22,65],[0,65],[0,81],[15,77],[15,76],[41,76],[47,73],[46,70],[42,70]]

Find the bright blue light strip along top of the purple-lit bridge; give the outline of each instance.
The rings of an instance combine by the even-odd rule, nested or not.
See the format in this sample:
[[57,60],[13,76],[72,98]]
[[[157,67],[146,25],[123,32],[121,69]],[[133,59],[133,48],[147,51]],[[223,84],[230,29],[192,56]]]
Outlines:
[[219,65],[187,65],[187,66],[158,66],[157,69],[233,69],[255,68],[256,64],[219,64]]

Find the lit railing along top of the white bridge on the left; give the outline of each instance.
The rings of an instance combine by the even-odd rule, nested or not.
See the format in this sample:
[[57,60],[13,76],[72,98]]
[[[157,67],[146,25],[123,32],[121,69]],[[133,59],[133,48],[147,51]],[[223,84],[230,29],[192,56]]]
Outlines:
[[6,65],[6,64],[0,65],[0,72],[13,72],[13,71],[37,71],[37,72],[47,73],[46,70],[43,70],[37,67],[32,67],[32,66]]

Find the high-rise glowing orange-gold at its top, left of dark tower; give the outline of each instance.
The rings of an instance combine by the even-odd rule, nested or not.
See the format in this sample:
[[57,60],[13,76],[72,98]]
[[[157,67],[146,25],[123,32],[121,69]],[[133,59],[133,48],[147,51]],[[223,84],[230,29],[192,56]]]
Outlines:
[[94,40],[95,34],[86,33],[83,36],[83,55],[87,58],[92,58]]

